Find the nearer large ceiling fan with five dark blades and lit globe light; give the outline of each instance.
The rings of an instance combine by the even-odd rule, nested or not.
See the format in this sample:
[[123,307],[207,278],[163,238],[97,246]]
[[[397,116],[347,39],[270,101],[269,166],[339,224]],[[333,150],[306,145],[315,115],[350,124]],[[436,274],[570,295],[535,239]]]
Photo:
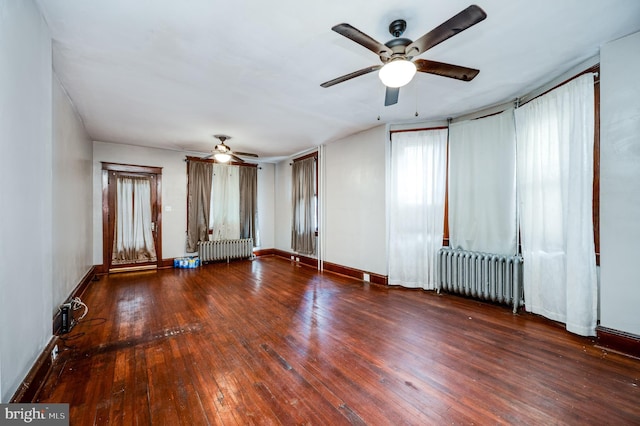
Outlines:
[[484,10],[476,5],[471,5],[416,41],[400,38],[407,28],[407,23],[403,19],[397,19],[389,25],[389,32],[394,38],[385,44],[374,40],[349,24],[338,24],[331,29],[371,50],[380,57],[382,65],[373,65],[354,71],[324,82],[320,86],[331,87],[354,77],[380,70],[378,76],[386,86],[384,105],[388,106],[398,102],[400,87],[409,83],[416,71],[462,81],[471,81],[478,75],[480,70],[426,59],[416,59],[415,61],[411,61],[411,59],[477,24],[486,17],[487,14]]

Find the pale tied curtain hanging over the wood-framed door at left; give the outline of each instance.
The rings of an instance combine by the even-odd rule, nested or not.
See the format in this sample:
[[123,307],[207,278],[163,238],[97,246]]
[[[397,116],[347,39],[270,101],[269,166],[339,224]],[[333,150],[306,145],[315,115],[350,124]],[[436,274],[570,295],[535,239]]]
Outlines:
[[157,260],[151,220],[151,183],[147,178],[118,176],[112,264]]

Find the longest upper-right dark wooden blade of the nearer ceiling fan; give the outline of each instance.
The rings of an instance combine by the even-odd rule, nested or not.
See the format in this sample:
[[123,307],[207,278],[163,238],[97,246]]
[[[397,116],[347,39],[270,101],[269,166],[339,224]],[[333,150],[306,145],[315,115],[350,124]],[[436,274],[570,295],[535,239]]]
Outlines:
[[410,58],[418,56],[433,46],[484,20],[486,17],[487,14],[484,10],[473,4],[408,45],[405,49],[405,54]]

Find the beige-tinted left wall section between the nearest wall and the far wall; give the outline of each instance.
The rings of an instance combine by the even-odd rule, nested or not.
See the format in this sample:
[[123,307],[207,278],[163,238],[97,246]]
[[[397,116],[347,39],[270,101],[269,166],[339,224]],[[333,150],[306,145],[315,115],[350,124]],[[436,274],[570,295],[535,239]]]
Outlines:
[[91,139],[54,76],[52,314],[93,265],[92,157]]

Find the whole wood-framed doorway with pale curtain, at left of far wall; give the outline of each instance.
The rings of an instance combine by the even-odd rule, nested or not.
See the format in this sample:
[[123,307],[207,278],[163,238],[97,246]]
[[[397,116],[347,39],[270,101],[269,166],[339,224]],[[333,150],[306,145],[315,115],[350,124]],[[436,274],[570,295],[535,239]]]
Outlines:
[[105,272],[156,269],[162,259],[162,168],[102,163]]

